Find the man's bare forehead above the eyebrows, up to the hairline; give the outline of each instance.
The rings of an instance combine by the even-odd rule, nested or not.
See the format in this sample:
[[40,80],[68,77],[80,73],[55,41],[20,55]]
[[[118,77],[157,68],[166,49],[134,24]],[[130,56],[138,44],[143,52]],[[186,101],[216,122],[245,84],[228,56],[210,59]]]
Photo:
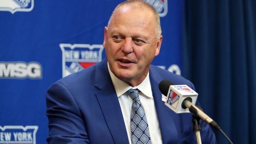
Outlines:
[[[109,30],[137,29],[139,31],[147,31],[149,33],[155,30],[155,18],[153,13],[146,8],[136,8],[130,6],[122,6],[113,14],[109,24]],[[138,31],[138,32],[139,32]]]

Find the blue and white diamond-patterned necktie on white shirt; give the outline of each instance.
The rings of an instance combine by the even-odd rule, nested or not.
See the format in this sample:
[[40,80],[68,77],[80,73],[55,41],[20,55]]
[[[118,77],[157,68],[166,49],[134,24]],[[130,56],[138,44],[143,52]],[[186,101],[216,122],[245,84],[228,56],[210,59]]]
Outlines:
[[133,99],[131,110],[132,144],[151,144],[147,118],[139,99],[139,90],[128,90],[128,95]]

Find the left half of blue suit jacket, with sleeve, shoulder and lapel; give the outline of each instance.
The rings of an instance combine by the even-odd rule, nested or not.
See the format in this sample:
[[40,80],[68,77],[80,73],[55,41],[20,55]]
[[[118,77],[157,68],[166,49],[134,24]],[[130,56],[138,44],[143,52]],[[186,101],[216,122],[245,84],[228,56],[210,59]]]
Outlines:
[[51,85],[46,107],[48,143],[129,143],[106,59]]

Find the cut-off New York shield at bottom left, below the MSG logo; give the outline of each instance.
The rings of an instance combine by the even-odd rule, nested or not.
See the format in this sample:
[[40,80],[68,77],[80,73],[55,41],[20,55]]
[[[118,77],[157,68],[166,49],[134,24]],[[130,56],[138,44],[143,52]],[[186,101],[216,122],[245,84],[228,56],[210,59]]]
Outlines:
[[0,143],[36,144],[38,126],[0,126]]

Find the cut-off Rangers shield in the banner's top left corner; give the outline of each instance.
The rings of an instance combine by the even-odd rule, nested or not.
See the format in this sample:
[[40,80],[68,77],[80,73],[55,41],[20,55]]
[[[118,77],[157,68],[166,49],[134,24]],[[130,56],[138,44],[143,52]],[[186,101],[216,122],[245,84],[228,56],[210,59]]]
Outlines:
[[0,11],[29,12],[34,8],[34,0],[0,0]]

